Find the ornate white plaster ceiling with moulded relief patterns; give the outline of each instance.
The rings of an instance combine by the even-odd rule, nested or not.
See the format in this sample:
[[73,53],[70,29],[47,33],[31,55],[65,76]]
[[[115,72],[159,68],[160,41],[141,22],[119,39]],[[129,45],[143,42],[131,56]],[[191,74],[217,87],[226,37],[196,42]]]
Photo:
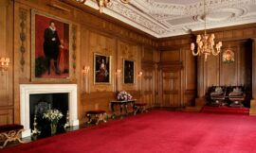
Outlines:
[[[98,9],[95,0],[84,4]],[[256,23],[256,0],[206,0],[205,18],[203,0],[112,0],[103,13],[163,38],[202,30],[205,18],[207,28]]]

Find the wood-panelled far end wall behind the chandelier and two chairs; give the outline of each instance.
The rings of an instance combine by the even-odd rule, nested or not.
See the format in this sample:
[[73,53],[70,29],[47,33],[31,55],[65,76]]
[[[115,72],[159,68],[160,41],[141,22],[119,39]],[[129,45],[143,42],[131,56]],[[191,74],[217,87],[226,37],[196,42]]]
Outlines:
[[234,51],[235,62],[229,64],[222,62],[222,54],[217,57],[210,56],[207,61],[204,61],[204,57],[192,56],[190,43],[194,42],[195,36],[203,31],[157,40],[157,50],[161,53],[159,62],[161,105],[189,106],[193,105],[195,97],[197,97],[196,102],[204,105],[204,95],[212,85],[245,85],[247,88],[252,88],[254,99],[256,97],[255,26],[248,24],[208,30],[208,33],[215,34],[216,42],[223,42],[223,51],[228,48]]

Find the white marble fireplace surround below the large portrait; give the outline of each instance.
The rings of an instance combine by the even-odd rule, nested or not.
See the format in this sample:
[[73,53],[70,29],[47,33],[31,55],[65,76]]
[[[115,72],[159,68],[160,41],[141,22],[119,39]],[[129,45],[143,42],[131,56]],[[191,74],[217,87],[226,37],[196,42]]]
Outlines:
[[22,137],[31,135],[29,126],[29,95],[36,93],[68,93],[68,111],[70,126],[78,126],[78,104],[76,84],[21,84],[20,85],[20,117],[25,130]]

